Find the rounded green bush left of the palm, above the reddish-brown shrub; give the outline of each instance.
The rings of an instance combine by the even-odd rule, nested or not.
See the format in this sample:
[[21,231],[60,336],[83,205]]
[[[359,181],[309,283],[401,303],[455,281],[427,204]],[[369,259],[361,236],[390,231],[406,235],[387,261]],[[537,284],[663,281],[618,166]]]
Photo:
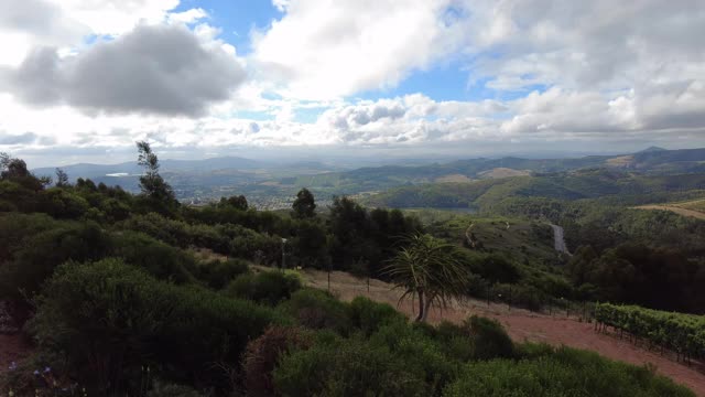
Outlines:
[[301,289],[280,308],[301,325],[313,330],[329,329],[340,334],[347,334],[350,330],[346,304],[325,291]]

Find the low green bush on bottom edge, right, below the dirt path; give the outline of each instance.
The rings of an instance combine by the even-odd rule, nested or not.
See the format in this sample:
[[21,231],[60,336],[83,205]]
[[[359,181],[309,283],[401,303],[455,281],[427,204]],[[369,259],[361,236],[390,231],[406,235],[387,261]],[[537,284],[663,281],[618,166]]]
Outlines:
[[473,363],[449,385],[447,397],[600,396],[693,397],[692,391],[651,369],[617,363],[590,352],[561,347],[535,360]]

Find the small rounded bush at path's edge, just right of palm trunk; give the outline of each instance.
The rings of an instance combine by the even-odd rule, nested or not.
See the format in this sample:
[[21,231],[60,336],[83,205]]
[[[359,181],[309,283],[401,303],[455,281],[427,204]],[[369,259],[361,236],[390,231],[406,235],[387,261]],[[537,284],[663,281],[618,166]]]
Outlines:
[[475,358],[509,358],[514,355],[514,344],[497,320],[473,315],[464,325],[473,339]]

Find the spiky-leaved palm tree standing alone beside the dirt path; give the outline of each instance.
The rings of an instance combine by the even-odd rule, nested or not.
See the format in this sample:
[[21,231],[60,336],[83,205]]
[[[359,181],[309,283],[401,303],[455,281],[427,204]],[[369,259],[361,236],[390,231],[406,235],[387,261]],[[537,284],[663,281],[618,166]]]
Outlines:
[[415,321],[426,321],[432,304],[447,307],[467,291],[470,272],[460,260],[458,247],[427,234],[412,235],[384,272],[404,293],[399,299],[419,298]]

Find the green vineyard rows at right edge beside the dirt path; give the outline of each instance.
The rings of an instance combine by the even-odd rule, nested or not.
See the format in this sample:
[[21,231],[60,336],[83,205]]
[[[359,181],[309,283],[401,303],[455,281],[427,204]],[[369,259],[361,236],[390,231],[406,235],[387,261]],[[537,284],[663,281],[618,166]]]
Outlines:
[[674,351],[684,361],[705,356],[705,316],[650,310],[634,305],[599,303],[595,326],[611,326],[651,346]]

